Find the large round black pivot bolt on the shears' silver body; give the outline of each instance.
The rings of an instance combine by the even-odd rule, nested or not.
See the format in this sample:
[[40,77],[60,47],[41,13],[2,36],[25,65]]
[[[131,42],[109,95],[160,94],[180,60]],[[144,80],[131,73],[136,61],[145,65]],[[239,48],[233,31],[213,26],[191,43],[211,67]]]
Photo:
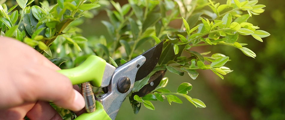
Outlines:
[[131,80],[128,77],[123,76],[119,79],[117,88],[120,93],[128,92],[130,87],[131,87]]

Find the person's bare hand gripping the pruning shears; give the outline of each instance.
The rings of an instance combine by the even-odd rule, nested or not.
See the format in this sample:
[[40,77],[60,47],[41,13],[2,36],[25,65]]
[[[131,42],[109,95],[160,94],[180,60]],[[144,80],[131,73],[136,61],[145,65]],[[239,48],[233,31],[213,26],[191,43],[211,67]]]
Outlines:
[[0,119],[61,120],[48,101],[82,110],[85,102],[78,86],[57,70],[60,68],[32,47],[0,37]]

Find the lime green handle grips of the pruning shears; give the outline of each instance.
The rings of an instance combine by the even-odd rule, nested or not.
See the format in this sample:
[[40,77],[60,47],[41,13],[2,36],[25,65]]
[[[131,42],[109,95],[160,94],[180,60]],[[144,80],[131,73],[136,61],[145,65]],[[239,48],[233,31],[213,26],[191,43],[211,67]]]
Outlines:
[[[106,61],[98,56],[89,56],[82,64],[71,69],[58,70],[67,76],[73,85],[90,82],[95,87],[100,87],[104,75]],[[92,113],[83,113],[76,120],[111,120],[103,109],[103,105],[96,101],[96,110]]]

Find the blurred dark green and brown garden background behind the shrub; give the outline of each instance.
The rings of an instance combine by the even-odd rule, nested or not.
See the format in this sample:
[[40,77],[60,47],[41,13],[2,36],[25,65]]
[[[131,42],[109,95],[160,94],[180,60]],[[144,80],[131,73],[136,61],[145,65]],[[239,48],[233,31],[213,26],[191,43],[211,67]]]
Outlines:
[[[126,1],[119,1],[120,4]],[[217,0],[225,3],[225,0]],[[130,102],[126,99],[118,113],[116,120],[283,120],[285,119],[285,34],[284,34],[284,6],[283,0],[261,0],[265,4],[265,12],[249,19],[255,26],[259,26],[271,34],[264,38],[263,43],[251,36],[239,37],[240,43],[247,43],[257,57],[247,57],[240,50],[224,46],[200,47],[200,52],[211,51],[229,56],[226,66],[234,70],[220,79],[207,70],[199,71],[196,80],[185,75],[180,77],[167,73],[170,81],[167,88],[176,91],[182,82],[193,85],[189,96],[198,98],[206,104],[206,108],[196,108],[186,99],[181,98],[183,104],[167,102],[153,102],[155,110],[141,107],[135,115]],[[83,36],[100,36],[108,34],[101,20],[107,20],[106,12],[102,11],[93,19],[88,19],[79,28]],[[233,54],[234,53],[234,54]]]

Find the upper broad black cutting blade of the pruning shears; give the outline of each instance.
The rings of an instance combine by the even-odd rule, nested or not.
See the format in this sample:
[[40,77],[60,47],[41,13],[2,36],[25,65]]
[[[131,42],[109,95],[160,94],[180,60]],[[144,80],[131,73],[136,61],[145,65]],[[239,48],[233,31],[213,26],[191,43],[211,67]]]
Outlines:
[[158,63],[158,60],[160,58],[162,46],[163,41],[141,54],[146,57],[146,62],[138,70],[135,81],[145,78],[147,75],[149,75],[149,73],[152,72],[153,68],[155,68],[155,65]]

